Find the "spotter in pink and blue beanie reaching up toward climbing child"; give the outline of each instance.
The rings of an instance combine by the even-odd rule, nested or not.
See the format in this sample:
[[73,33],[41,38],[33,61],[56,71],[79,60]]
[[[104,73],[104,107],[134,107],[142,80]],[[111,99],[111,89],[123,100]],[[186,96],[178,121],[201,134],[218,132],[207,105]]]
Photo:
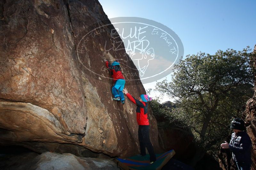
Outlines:
[[140,142],[140,155],[146,155],[146,148],[150,156],[150,164],[156,161],[156,154],[153,145],[149,138],[149,122],[148,122],[148,103],[152,100],[148,95],[140,95],[139,100],[135,99],[126,89],[123,90],[124,94],[132,103],[137,105],[136,117],[139,125],[138,137]]

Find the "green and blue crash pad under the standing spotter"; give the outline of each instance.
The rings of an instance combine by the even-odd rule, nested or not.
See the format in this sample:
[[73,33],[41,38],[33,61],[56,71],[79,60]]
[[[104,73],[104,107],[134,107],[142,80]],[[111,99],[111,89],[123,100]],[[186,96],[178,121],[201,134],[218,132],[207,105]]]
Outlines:
[[149,163],[149,154],[146,156],[132,156],[125,159],[116,158],[117,166],[125,170],[144,169],[144,170],[160,170],[175,154],[172,149],[168,152],[156,154],[156,161],[153,164]]

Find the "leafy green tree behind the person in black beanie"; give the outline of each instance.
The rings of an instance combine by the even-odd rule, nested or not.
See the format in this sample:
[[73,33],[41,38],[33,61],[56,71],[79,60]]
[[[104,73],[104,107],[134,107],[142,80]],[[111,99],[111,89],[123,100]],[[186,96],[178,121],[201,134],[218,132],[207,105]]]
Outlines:
[[174,66],[171,82],[156,84],[156,90],[176,101],[172,117],[193,131],[200,148],[194,164],[206,151],[219,149],[230,133],[231,118],[241,117],[253,94],[249,51],[247,47],[243,51],[219,50],[214,55],[187,55]]

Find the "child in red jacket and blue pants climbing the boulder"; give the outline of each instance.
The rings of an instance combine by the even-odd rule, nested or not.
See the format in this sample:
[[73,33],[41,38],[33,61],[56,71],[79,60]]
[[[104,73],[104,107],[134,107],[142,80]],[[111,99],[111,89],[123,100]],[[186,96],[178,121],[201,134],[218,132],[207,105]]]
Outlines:
[[124,76],[121,71],[120,63],[114,61],[112,64],[110,64],[108,61],[106,61],[106,67],[108,70],[111,71],[111,76],[114,81],[114,86],[112,87],[112,94],[114,96],[113,100],[115,101],[120,101],[124,104],[124,85],[125,85],[125,80]]

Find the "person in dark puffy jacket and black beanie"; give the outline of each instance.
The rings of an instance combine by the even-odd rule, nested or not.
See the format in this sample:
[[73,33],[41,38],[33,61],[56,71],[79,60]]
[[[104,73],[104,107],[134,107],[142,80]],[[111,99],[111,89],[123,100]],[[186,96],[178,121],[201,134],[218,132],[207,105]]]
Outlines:
[[234,133],[231,135],[230,143],[222,143],[222,148],[229,148],[232,151],[233,159],[239,170],[250,170],[252,165],[251,147],[252,141],[245,131],[244,121],[240,118],[235,118],[231,122],[230,129]]

